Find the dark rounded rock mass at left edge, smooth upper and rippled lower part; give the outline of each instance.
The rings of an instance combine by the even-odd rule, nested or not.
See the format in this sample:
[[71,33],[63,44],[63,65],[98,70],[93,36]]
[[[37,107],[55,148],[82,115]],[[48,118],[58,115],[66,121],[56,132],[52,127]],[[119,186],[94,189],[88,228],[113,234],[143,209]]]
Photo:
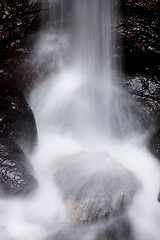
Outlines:
[[[0,83],[0,189],[2,194],[30,191],[36,186],[26,157],[37,141],[33,113],[24,89],[9,78]],[[26,153],[26,154],[25,154]]]

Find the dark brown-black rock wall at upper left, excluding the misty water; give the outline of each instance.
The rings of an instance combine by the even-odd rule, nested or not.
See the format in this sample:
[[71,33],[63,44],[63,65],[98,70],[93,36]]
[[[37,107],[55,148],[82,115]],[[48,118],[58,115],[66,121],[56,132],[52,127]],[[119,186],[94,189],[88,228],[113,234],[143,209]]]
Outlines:
[[40,26],[40,5],[40,1],[0,1],[0,73],[21,79],[25,86],[31,74],[22,67],[22,61],[26,63],[35,42],[32,35]]

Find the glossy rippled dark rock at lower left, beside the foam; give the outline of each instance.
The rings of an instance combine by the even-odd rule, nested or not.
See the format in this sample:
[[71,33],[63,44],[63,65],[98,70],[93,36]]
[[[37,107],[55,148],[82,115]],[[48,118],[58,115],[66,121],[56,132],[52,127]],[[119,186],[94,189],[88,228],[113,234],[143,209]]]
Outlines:
[[37,185],[24,152],[12,139],[0,137],[0,193],[28,193]]

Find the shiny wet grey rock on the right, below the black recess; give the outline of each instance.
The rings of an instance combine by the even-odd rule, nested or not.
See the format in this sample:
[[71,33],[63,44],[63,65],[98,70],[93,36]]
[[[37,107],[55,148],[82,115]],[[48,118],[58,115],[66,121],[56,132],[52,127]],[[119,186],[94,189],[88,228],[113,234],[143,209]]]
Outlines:
[[134,116],[135,130],[148,135],[148,148],[160,159],[160,82],[155,75],[127,76],[124,87],[132,95],[128,99]]

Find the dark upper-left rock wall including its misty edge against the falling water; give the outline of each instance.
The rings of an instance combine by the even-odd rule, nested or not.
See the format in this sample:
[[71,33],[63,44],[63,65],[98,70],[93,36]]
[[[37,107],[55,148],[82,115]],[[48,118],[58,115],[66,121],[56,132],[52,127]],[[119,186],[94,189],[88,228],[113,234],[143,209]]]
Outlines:
[[0,37],[0,73],[19,79],[23,88],[30,92],[45,75],[38,62],[33,61],[37,50],[33,46],[40,31],[62,26],[64,11],[70,9],[69,0],[4,2],[10,11],[5,19],[2,17],[4,8],[0,12],[0,36],[3,36],[3,39]]

